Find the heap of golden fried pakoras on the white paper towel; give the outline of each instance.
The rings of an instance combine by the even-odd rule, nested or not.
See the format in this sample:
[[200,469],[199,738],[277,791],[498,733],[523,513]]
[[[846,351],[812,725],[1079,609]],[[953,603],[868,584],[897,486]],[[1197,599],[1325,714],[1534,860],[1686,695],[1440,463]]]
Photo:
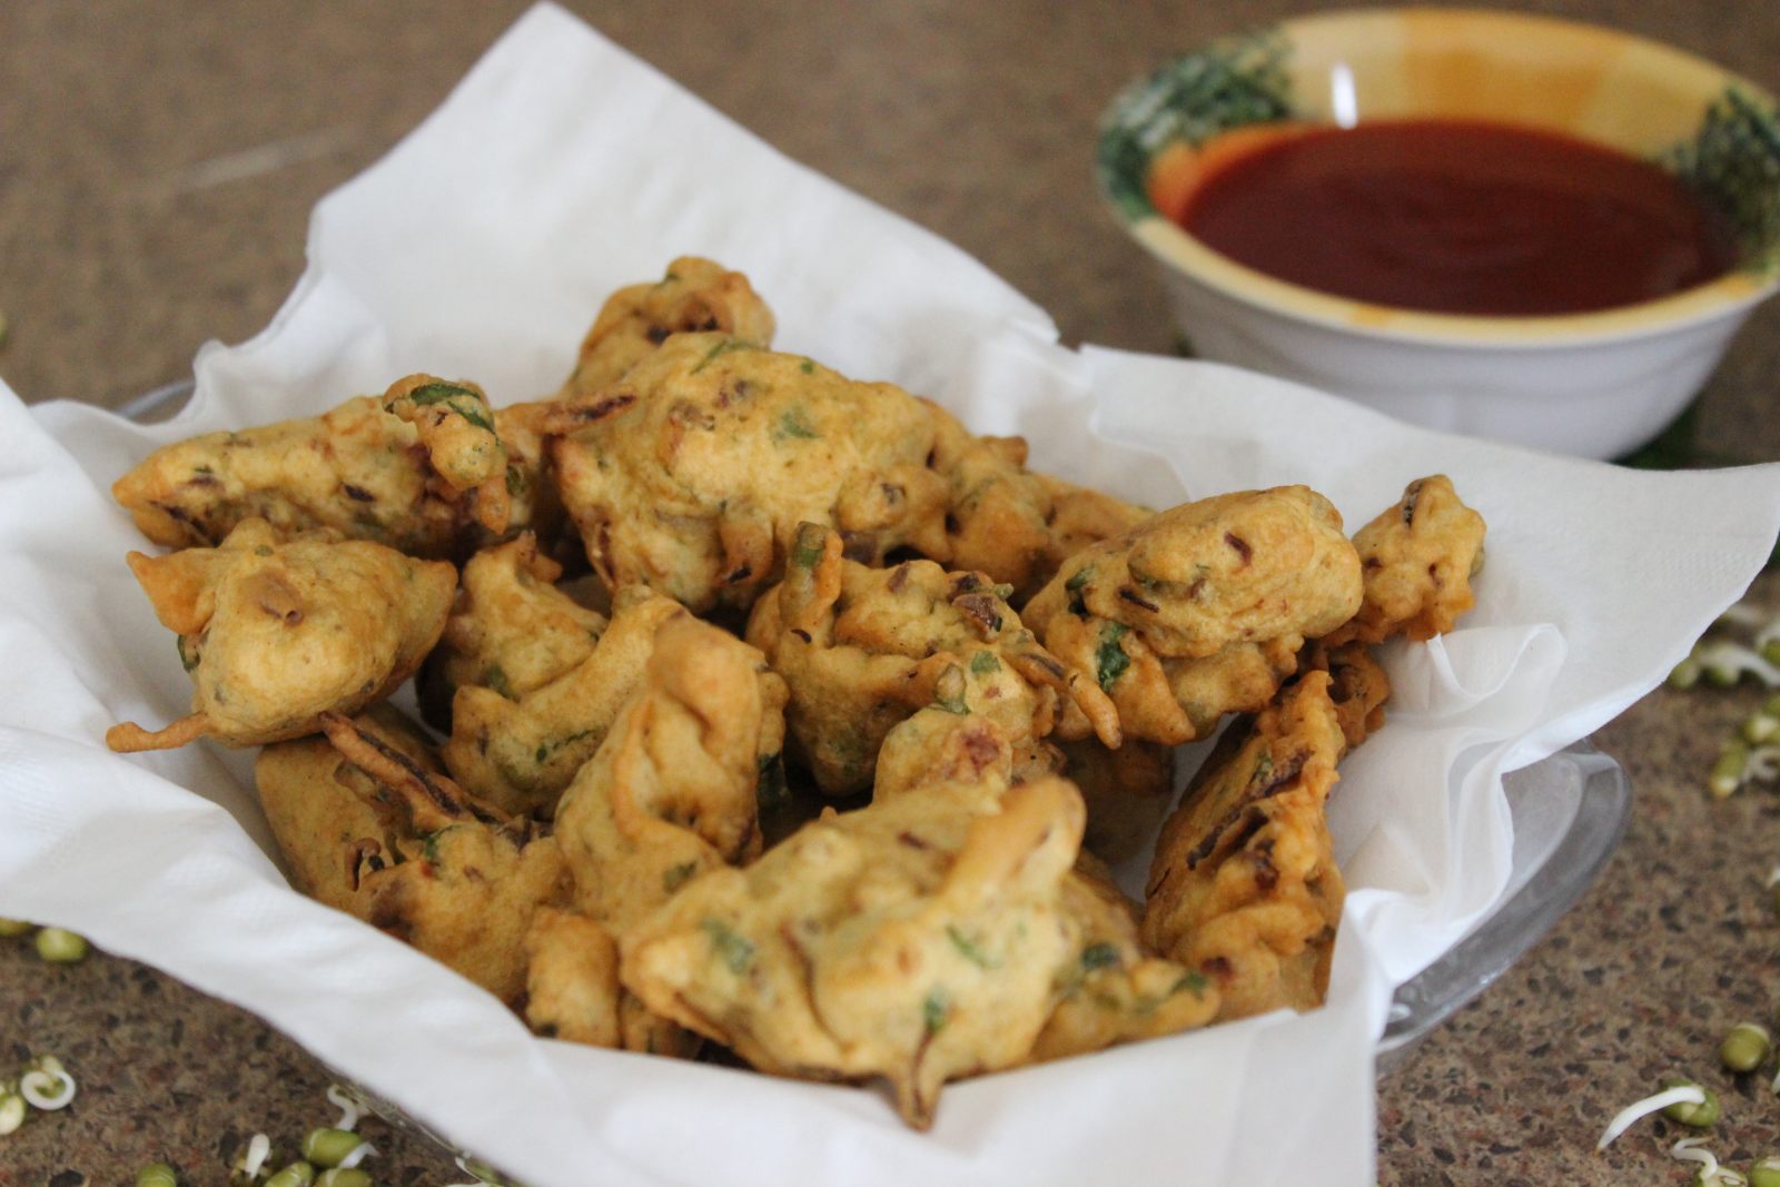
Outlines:
[[263,746],[292,883],[538,1034],[881,1078],[915,1126],[1317,1005],[1372,648],[1472,605],[1483,518],[1438,475],[1353,539],[1303,486],[1152,513],[773,331],[684,258],[550,399],[409,375],[157,450],[114,493],[192,712],[107,742]]

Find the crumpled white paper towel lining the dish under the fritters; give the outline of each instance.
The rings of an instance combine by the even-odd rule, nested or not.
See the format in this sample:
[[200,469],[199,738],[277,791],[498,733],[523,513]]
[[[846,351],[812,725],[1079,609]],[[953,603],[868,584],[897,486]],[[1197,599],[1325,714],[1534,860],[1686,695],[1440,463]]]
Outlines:
[[[1390,724],[1331,820],[1330,1002],[947,1089],[913,1134],[869,1089],[534,1039],[491,997],[285,886],[251,756],[119,758],[107,724],[189,683],[123,566],[107,488],[151,447],[317,413],[413,370],[550,392],[600,299],[680,253],[744,269],[780,345],[892,379],[1034,464],[1150,504],[1305,480],[1358,527],[1452,475],[1490,521],[1477,610],[1397,646]],[[315,210],[255,340],[206,345],[171,424],[0,393],[0,911],[237,1002],[538,1185],[1367,1183],[1392,986],[1509,870],[1501,774],[1654,687],[1748,585],[1780,468],[1632,473],[1412,429],[1257,375],[1056,343],[974,260],[776,155],[555,7],[530,11],[388,158]]]

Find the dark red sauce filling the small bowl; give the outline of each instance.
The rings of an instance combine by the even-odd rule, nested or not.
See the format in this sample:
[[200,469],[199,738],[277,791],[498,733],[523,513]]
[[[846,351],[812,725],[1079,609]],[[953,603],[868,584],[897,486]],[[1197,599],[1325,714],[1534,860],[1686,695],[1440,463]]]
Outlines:
[[1588,313],[1737,260],[1728,221],[1659,167],[1458,119],[1282,132],[1214,169],[1180,224],[1269,276],[1433,313]]

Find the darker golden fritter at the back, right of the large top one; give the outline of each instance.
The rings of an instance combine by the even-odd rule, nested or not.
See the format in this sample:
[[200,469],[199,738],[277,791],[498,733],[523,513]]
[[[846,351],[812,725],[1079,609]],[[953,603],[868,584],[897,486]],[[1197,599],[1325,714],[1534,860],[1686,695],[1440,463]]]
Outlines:
[[934,424],[929,464],[949,488],[947,555],[940,559],[1013,585],[1011,602],[1031,598],[1070,555],[1148,516],[1111,495],[1027,470],[1024,438],[972,436],[956,416],[926,404]]

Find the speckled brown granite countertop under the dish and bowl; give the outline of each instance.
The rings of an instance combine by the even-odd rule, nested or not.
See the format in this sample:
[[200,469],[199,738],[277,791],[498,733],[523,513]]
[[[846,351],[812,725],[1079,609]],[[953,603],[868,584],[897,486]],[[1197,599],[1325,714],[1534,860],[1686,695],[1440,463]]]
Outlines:
[[[1066,340],[1168,351],[1152,265],[1091,189],[1093,119],[1171,50],[1305,5],[571,7],[789,155],[984,260]],[[1655,36],[1780,91],[1773,0],[1524,7]],[[0,5],[0,375],[27,400],[116,406],[189,375],[201,342],[260,329],[301,272],[310,206],[522,9]],[[1775,375],[1780,303],[1707,388],[1702,448],[1780,457]],[[1757,594],[1780,603],[1780,582]],[[1703,792],[1718,737],[1757,699],[1664,689],[1597,735],[1636,787],[1625,842],[1550,936],[1381,1080],[1381,1183],[1684,1183],[1663,1121],[1591,1153],[1606,1119],[1671,1071],[1723,1089],[1721,1157],[1780,1153],[1780,1100],[1730,1082],[1714,1055],[1730,1023],[1780,1004],[1762,888],[1780,799]],[[235,1007],[103,954],[52,966],[0,943],[0,1066],[34,1050],[57,1052],[82,1093],[0,1139],[0,1187],[132,1182],[157,1159],[221,1183],[255,1130],[288,1141],[333,1116],[326,1071]],[[367,1130],[381,1183],[465,1178],[417,1137]]]

